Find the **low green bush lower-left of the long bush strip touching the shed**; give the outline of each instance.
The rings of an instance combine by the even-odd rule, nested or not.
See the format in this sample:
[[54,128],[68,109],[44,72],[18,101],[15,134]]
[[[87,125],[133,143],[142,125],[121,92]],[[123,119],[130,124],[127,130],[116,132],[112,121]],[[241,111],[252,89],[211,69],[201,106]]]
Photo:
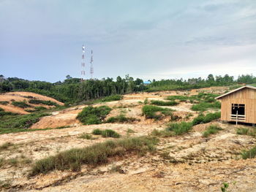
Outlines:
[[192,123],[181,122],[181,123],[170,123],[166,130],[173,131],[175,135],[181,135],[187,133],[192,128]]

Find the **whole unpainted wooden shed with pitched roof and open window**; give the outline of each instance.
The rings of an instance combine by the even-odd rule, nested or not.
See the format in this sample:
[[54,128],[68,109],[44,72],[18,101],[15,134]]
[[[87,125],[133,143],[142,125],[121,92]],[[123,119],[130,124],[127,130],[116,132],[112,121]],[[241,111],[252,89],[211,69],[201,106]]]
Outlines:
[[216,99],[222,103],[221,120],[256,123],[256,87],[245,85]]

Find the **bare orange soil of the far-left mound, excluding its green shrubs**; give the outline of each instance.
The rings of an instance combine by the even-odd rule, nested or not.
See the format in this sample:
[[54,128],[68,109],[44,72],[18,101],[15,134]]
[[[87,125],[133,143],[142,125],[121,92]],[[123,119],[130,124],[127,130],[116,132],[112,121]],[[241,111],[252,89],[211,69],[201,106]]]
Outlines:
[[[0,107],[4,109],[6,112],[13,112],[13,113],[19,113],[19,114],[29,114],[29,110],[34,110],[34,107],[45,107],[47,109],[54,107],[49,106],[47,104],[30,104],[29,100],[31,99],[37,99],[42,101],[52,101],[59,105],[64,105],[64,103],[57,101],[56,99],[53,99],[48,96],[42,96],[37,93],[31,93],[31,92],[9,92],[0,94]],[[29,104],[31,107],[17,107],[12,104],[12,101],[22,101],[26,104]]]

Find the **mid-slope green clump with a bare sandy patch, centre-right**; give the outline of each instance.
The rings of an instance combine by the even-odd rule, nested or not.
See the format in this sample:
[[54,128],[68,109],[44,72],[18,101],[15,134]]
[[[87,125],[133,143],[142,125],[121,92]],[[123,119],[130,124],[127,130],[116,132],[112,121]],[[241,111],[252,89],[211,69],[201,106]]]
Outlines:
[[163,115],[165,116],[172,115],[173,110],[163,108],[163,107],[157,107],[154,105],[145,105],[143,106],[142,111],[143,111],[143,115],[145,115],[146,118],[153,118],[155,120],[159,120],[160,118],[163,117]]

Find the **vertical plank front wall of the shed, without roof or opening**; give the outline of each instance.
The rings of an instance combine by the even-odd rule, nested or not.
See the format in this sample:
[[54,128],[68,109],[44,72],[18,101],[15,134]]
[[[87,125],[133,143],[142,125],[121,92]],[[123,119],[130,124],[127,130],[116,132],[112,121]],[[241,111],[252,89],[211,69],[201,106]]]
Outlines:
[[246,123],[256,123],[256,90],[244,88],[222,97],[222,116],[221,120],[230,120],[231,105],[245,104]]

